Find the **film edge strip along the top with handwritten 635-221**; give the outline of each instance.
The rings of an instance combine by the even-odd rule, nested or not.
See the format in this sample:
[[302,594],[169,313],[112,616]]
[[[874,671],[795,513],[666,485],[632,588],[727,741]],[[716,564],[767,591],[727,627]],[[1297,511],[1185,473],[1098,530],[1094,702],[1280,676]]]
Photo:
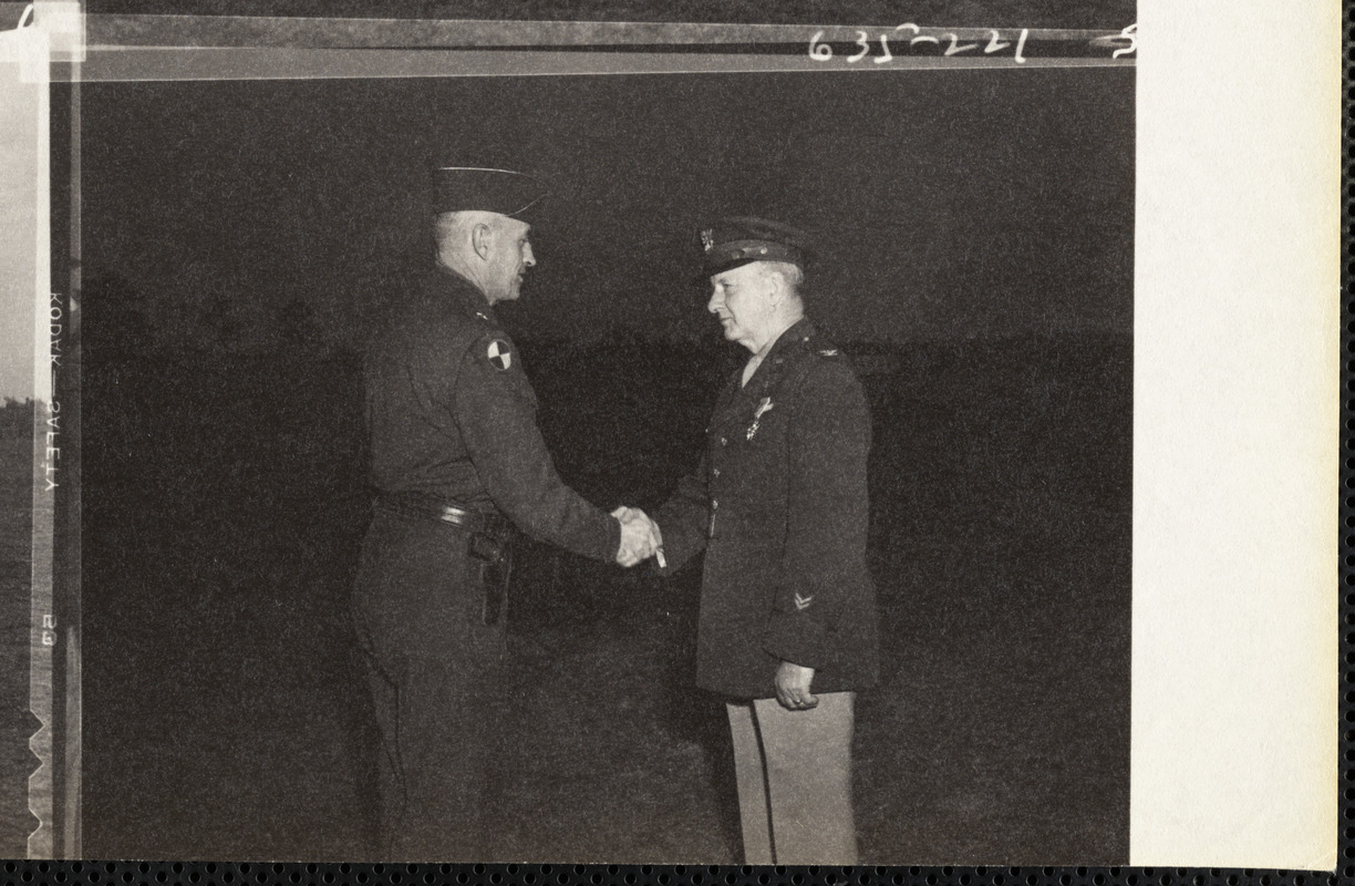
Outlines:
[[[61,3],[61,7],[73,4]],[[89,81],[1133,65],[1138,26],[703,24],[89,14],[54,60]]]

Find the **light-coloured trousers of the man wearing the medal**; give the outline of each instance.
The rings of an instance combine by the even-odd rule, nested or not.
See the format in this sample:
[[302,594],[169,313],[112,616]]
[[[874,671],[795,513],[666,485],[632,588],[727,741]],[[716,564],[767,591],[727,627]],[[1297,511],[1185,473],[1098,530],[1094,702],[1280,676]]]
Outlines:
[[855,692],[790,711],[776,699],[726,704],[745,864],[855,864],[851,737]]

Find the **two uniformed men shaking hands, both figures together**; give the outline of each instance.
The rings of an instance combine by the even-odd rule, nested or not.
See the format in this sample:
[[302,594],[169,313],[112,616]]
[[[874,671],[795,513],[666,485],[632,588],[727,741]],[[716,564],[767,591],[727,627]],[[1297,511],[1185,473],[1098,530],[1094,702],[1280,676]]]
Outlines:
[[696,683],[726,703],[745,862],[852,864],[852,706],[878,672],[870,412],[805,316],[808,237],[748,217],[699,232],[707,310],[752,356],[654,516],[607,513],[557,476],[495,314],[537,264],[524,214],[543,195],[519,172],[436,169],[435,260],[367,354],[378,497],[354,623],[382,742],[382,853],[484,856],[503,600],[523,532],[625,568],[654,558],[661,574],[705,554]]

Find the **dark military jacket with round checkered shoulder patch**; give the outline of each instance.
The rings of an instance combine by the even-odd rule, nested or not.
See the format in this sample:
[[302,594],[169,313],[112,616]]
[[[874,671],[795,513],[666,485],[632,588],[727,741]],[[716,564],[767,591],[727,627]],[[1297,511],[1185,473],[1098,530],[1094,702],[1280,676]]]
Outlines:
[[404,293],[364,377],[379,492],[499,512],[576,554],[617,555],[619,523],[556,474],[518,348],[469,282],[438,266]]

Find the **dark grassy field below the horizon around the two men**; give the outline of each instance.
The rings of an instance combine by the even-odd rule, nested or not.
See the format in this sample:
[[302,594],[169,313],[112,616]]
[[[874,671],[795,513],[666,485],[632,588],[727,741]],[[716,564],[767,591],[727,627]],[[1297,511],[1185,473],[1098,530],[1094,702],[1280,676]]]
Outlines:
[[[663,500],[738,362],[635,340],[524,356],[561,471],[607,507]],[[863,860],[1123,863],[1131,343],[858,356],[883,629]],[[84,855],[369,858],[355,362],[93,358]],[[722,706],[691,687],[698,580],[524,549],[497,859],[740,860]]]

